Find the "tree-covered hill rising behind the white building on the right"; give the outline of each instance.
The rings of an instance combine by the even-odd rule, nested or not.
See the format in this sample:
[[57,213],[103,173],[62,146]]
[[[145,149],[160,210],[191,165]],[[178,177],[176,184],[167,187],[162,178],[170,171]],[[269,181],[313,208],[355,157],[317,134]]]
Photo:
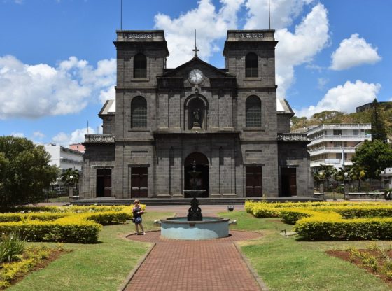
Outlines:
[[[388,138],[392,139],[392,102],[379,103],[381,118],[384,120]],[[339,111],[323,111],[315,113],[311,118],[293,116],[291,118],[291,131],[312,125],[322,125],[330,123],[371,123],[370,110],[354,113],[343,113]]]

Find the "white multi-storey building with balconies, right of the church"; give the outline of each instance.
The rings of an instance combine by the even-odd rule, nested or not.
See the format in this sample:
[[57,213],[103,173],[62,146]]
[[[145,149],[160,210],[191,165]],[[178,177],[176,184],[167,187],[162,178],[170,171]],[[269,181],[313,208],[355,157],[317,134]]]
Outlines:
[[319,125],[306,133],[310,143],[310,167],[316,171],[321,164],[339,167],[352,165],[351,158],[356,148],[365,140],[371,140],[372,125],[366,124],[330,124]]

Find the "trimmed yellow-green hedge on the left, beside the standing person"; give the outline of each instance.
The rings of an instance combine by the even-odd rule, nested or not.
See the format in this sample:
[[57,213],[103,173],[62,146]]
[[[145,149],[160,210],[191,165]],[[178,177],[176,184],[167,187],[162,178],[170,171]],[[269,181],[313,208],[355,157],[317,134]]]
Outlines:
[[4,213],[0,214],[0,234],[18,233],[27,241],[96,243],[102,225],[130,219],[131,206],[77,206],[51,213]]

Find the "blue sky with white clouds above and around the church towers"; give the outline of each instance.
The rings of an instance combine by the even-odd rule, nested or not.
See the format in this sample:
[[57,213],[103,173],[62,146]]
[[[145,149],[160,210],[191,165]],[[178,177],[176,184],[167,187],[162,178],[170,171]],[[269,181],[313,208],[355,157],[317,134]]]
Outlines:
[[[276,83],[297,115],[392,100],[392,3],[270,0]],[[268,29],[268,0],[123,0],[123,29],[164,29],[169,67],[223,67],[227,29]],[[0,134],[67,145],[114,98],[120,0],[0,0]]]

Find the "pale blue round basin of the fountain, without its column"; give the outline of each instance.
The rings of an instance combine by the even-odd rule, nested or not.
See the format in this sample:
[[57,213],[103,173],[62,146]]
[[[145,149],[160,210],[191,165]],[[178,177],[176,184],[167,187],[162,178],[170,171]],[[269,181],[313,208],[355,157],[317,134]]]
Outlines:
[[204,217],[188,221],[186,217],[160,220],[160,234],[167,239],[202,240],[229,236],[230,218]]

